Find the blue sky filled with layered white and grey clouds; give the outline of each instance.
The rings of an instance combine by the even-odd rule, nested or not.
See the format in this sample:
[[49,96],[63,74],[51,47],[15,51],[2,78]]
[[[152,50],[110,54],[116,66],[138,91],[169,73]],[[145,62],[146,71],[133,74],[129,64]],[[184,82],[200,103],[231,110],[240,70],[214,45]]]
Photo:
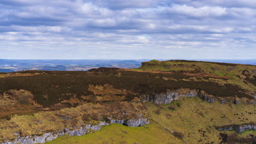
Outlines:
[[4,59],[252,59],[255,0],[0,0]]

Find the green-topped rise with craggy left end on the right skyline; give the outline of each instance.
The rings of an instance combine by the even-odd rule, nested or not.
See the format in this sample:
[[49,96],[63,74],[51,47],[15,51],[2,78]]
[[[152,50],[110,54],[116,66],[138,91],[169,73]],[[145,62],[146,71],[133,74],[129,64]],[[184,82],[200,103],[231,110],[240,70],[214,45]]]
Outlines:
[[[256,66],[245,64],[230,64],[199,61],[157,61],[143,62],[138,71],[164,71],[170,73],[183,73],[194,75],[195,81],[202,81],[202,77],[208,77],[208,81],[225,85],[227,83],[246,89],[248,93],[255,93]],[[205,81],[205,80],[203,80]]]

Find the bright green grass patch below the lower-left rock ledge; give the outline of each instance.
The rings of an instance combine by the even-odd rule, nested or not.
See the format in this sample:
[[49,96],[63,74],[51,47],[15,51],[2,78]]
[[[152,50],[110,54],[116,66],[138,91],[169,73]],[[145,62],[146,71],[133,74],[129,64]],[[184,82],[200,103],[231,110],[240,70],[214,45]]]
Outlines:
[[[104,126],[100,131],[89,133],[83,136],[59,136],[53,141],[46,144],[69,144],[69,143],[139,143],[139,144],[155,144],[155,143],[183,143],[166,130],[162,129],[158,124],[151,122],[146,127],[126,127],[120,124],[111,124]],[[127,134],[126,134],[127,133]]]

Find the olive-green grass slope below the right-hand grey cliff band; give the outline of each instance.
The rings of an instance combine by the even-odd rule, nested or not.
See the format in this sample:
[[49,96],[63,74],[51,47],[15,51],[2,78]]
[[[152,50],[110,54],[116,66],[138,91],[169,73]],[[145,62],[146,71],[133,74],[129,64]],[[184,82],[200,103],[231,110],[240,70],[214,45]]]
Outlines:
[[[168,109],[170,105],[175,106],[176,109]],[[171,104],[159,106],[147,103],[147,106],[150,118],[172,132],[183,131],[184,141],[187,143],[219,143],[219,133],[225,131],[218,131],[214,126],[256,122],[256,109],[253,105],[220,104],[218,101],[210,104],[196,97],[182,98]],[[155,113],[156,110],[160,110],[160,113]],[[234,115],[235,113],[238,115]]]

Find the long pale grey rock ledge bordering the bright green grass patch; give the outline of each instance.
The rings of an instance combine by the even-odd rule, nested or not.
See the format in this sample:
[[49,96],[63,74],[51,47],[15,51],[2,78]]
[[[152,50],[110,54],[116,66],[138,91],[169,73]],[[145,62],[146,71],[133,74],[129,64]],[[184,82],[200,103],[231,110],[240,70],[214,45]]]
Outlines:
[[52,131],[50,133],[45,133],[43,135],[35,136],[24,136],[21,137],[19,134],[16,134],[17,137],[14,140],[0,141],[2,144],[34,144],[34,143],[45,143],[46,141],[52,141],[56,139],[59,135],[70,135],[70,136],[82,136],[90,132],[90,130],[97,131],[101,130],[103,125],[109,125],[112,123],[123,124],[128,127],[141,127],[143,125],[149,124],[149,118],[138,118],[138,119],[112,119],[107,122],[99,122],[96,125],[87,124],[84,127],[74,127],[66,128],[61,130]]

